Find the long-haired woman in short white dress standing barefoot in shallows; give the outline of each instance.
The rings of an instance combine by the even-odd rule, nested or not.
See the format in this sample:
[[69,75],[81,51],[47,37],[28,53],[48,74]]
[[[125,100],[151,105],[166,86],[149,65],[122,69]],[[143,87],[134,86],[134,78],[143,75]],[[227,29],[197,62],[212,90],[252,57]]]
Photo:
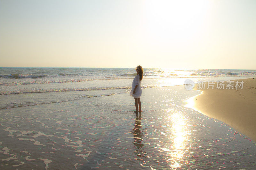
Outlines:
[[142,89],[140,87],[141,80],[143,78],[143,69],[139,65],[136,68],[137,76],[132,81],[132,91],[130,92],[130,96],[134,97],[135,100],[135,108],[136,110],[134,113],[138,113],[138,105],[139,105],[139,112],[141,113],[141,102],[140,102],[140,95],[142,93]]

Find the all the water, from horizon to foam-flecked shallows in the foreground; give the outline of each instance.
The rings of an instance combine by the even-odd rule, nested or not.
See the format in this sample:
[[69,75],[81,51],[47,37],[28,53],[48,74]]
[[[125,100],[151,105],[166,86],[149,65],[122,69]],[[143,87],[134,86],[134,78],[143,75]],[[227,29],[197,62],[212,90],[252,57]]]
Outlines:
[[196,82],[256,70],[0,68],[1,169],[255,169],[256,146],[227,124],[182,106]]

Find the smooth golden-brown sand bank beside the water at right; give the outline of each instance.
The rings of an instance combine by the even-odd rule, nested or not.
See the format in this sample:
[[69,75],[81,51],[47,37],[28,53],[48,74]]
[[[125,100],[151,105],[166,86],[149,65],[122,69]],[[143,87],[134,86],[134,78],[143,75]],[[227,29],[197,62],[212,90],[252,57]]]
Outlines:
[[[223,90],[216,88],[217,82],[214,83],[213,89],[211,86],[207,89],[208,82],[205,83],[205,88],[199,89],[202,94],[192,99],[194,101],[192,108],[227,123],[256,142],[256,79],[232,81],[234,87],[236,81],[239,85],[244,81],[243,88],[226,89],[227,81],[224,82]],[[195,85],[194,90],[198,90],[198,85]]]

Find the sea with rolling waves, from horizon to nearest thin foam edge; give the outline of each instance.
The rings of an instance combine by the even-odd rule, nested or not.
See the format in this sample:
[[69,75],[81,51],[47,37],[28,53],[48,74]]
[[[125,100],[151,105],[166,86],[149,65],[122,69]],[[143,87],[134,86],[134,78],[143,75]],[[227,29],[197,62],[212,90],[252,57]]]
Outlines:
[[[134,76],[135,68],[0,68],[0,109],[126,93]],[[251,77],[256,77],[256,70],[144,68],[141,85],[164,87],[183,85],[186,79],[202,82]]]

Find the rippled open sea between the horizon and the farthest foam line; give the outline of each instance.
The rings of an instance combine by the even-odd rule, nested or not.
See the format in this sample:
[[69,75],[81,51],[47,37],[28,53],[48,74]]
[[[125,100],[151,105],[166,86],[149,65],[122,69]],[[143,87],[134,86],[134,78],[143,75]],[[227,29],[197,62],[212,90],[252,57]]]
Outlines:
[[[134,70],[134,68],[0,68],[0,85],[130,79],[136,76]],[[144,78],[233,78],[252,76],[256,76],[256,70],[144,68]]]

